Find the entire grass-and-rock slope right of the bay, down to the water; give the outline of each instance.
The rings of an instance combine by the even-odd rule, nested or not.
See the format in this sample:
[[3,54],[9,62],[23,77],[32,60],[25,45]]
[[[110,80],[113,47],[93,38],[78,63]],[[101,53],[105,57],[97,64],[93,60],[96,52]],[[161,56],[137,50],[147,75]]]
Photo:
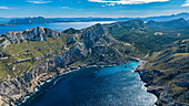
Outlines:
[[189,39],[177,41],[155,53],[146,70],[139,71],[158,106],[189,104]]

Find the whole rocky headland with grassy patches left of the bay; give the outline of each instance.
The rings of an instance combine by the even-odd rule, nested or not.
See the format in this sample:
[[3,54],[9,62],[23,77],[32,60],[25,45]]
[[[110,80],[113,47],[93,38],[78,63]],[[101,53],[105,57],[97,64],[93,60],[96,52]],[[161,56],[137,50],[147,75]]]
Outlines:
[[81,31],[57,32],[39,26],[2,34],[1,56],[7,59],[1,60],[0,68],[1,105],[19,104],[39,84],[70,68],[120,64],[137,53],[131,44],[118,42],[103,29],[96,24]]

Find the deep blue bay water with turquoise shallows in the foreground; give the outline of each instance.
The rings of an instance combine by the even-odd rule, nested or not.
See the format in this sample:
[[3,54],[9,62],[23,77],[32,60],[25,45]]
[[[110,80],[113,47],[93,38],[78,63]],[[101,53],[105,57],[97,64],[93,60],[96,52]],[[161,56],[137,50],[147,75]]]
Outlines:
[[64,74],[39,88],[22,106],[155,106],[133,70],[139,63],[86,67]]

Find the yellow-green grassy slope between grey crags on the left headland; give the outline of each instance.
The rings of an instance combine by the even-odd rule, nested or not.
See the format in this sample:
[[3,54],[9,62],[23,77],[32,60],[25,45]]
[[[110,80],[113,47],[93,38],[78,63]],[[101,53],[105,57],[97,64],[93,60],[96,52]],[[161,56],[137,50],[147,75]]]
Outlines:
[[[27,41],[23,43],[14,44],[1,49],[0,57],[8,57],[0,60],[0,77],[3,80],[7,75],[14,77],[28,71],[31,66],[42,62],[44,59],[53,56],[54,54],[63,53],[66,41],[74,34],[66,34],[63,36],[48,38],[47,41]],[[40,61],[27,61],[21,63],[8,64],[22,59],[44,57]]]

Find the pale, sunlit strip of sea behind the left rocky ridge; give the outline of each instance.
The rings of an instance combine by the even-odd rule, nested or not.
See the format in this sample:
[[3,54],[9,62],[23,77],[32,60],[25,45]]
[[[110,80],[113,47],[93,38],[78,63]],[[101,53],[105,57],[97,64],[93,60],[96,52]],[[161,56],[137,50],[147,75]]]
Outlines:
[[98,22],[61,22],[61,23],[43,23],[43,24],[23,24],[23,25],[9,25],[9,26],[0,26],[0,34],[7,33],[9,31],[23,31],[26,29],[37,28],[37,26],[44,26],[56,31],[63,31],[68,28],[74,29],[83,29],[91,26],[97,23],[112,23],[115,21],[98,21]]

